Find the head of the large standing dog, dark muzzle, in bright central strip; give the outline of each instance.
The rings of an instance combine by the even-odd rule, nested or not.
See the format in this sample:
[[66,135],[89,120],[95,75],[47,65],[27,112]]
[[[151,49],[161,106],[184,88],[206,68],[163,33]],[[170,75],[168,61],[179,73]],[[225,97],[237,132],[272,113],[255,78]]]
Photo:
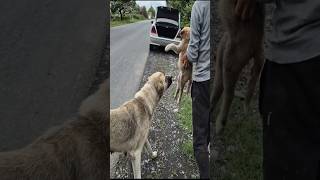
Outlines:
[[156,72],[149,76],[148,82],[151,82],[158,94],[162,95],[172,84],[172,76],[166,76],[163,72]]

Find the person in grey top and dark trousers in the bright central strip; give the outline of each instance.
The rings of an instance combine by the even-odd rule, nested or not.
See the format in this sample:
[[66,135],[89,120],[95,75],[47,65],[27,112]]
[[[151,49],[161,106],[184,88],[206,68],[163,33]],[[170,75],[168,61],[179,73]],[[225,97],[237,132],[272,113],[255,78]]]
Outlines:
[[193,63],[192,125],[193,149],[200,178],[209,178],[210,121],[210,1],[196,1],[192,6],[190,41],[183,64]]

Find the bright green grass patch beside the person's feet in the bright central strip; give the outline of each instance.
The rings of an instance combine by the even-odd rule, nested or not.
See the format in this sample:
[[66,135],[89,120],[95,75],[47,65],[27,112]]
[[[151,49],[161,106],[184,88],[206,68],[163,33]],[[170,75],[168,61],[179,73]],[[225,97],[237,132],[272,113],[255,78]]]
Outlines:
[[190,95],[183,94],[178,111],[178,118],[180,126],[189,135],[189,138],[181,143],[180,148],[191,161],[194,161],[192,143],[192,103]]

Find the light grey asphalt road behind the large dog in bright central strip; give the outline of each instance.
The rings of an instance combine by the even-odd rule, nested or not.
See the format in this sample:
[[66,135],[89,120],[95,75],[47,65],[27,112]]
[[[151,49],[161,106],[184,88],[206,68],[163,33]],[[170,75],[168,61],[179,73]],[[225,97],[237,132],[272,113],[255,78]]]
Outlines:
[[[150,21],[113,27],[110,31],[110,106],[118,107],[133,98],[139,88],[149,54]],[[118,154],[110,156],[110,175]]]

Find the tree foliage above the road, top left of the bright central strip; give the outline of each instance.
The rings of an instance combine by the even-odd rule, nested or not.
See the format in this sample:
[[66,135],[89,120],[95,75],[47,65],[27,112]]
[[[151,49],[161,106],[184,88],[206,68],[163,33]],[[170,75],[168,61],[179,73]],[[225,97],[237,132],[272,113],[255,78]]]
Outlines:
[[121,21],[123,19],[123,16],[134,11],[135,7],[136,2],[134,0],[112,0],[110,2],[111,12],[119,13]]

